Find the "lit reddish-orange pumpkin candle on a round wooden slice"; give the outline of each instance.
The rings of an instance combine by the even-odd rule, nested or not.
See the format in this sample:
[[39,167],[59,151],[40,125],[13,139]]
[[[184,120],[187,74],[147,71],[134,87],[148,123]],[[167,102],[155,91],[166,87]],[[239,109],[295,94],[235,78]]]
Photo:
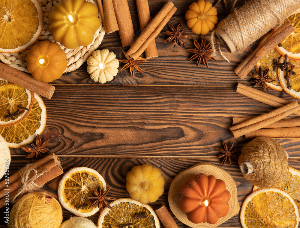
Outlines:
[[230,193],[225,182],[213,175],[198,174],[180,188],[179,208],[193,223],[215,224],[229,211]]

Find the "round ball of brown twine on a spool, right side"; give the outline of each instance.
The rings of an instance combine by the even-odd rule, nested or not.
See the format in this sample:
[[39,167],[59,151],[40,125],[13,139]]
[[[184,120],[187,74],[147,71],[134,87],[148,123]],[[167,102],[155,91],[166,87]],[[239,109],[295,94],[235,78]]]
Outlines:
[[257,137],[242,148],[238,165],[250,183],[269,188],[288,171],[288,155],[274,139]]

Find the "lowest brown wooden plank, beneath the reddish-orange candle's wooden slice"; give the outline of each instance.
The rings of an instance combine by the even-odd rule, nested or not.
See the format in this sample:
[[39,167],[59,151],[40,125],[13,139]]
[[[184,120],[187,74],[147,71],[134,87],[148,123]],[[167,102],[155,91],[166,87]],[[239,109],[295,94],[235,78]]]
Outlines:
[[[154,203],[149,203],[153,208],[156,208],[162,204],[168,206],[168,189],[173,178],[184,169],[189,168],[201,161],[208,161],[213,164],[220,166],[220,162],[216,159],[120,159],[120,158],[89,158],[86,157],[60,157],[61,165],[64,169],[64,172],[67,172],[70,168],[85,166],[92,169],[97,170],[105,179],[108,186],[112,186],[112,190],[109,193],[109,196],[115,198],[127,198],[129,197],[128,192],[125,188],[126,183],[126,175],[132,169],[132,167],[136,165],[142,164],[150,164],[152,166],[157,167],[161,170],[161,173],[165,179],[165,191],[164,194],[158,199],[158,201]],[[13,157],[12,163],[10,165],[10,174],[16,172],[19,168],[21,168],[28,160],[22,157]],[[289,160],[289,166],[292,166],[296,169],[300,169],[300,164],[297,160]],[[237,161],[234,160],[233,166],[230,167],[229,164],[225,164],[223,168],[229,172],[229,174],[233,177],[236,182],[237,190],[238,190],[238,201],[241,206],[244,198],[250,194],[252,191],[253,185],[249,183],[241,174]],[[44,186],[44,190],[49,192],[50,195],[53,195],[57,198],[57,186],[58,182],[62,176],[55,178]],[[11,207],[12,205],[10,205]],[[3,209],[0,209],[0,213],[3,212]],[[171,213],[172,214],[172,213]],[[63,209],[64,220],[67,220],[71,216],[72,213]],[[172,214],[173,215],[173,214]],[[99,213],[89,217],[93,222],[97,223]],[[178,221],[174,215],[176,223],[180,227],[187,227]],[[220,227],[241,227],[239,223],[238,215],[235,215],[225,223],[223,223]]]

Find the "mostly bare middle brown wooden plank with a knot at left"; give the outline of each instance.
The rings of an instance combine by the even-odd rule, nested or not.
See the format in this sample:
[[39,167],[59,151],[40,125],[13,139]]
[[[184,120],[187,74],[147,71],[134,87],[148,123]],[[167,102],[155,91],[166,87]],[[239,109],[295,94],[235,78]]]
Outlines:
[[[215,156],[214,146],[232,140],[232,117],[274,109],[234,88],[200,86],[56,86],[44,101],[42,137],[52,152],[67,156]],[[279,141],[298,156],[299,140]],[[235,140],[238,146],[247,141]]]

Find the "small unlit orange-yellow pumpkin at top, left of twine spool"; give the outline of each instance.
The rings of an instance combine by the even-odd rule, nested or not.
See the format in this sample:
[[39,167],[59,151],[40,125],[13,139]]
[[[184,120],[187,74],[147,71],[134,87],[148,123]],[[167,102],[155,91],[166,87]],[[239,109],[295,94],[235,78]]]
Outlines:
[[190,4],[185,19],[193,33],[206,35],[217,24],[217,9],[209,1],[199,0]]

